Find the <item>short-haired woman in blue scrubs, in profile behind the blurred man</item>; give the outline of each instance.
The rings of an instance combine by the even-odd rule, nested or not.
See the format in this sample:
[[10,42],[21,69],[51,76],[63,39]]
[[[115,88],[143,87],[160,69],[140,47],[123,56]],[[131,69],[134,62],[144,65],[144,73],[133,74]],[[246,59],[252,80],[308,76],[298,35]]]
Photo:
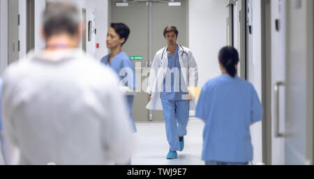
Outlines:
[[[135,89],[135,70],[129,56],[121,51],[121,47],[128,40],[130,29],[123,23],[112,23],[107,33],[107,48],[110,49],[110,54],[101,59],[101,63],[109,65],[121,80],[122,85]],[[136,126],[133,119],[133,95],[126,95],[126,102],[128,104],[128,113],[130,116],[133,131],[136,132]]]

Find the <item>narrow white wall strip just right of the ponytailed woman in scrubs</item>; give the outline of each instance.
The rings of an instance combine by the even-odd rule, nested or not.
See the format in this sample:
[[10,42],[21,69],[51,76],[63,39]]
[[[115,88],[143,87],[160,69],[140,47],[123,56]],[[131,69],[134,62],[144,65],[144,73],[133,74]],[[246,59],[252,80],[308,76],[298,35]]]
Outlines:
[[[262,10],[261,0],[251,0],[253,33],[249,36],[248,81],[253,84],[257,94],[262,99]],[[262,162],[262,123],[251,126],[251,137],[254,148],[253,163]]]

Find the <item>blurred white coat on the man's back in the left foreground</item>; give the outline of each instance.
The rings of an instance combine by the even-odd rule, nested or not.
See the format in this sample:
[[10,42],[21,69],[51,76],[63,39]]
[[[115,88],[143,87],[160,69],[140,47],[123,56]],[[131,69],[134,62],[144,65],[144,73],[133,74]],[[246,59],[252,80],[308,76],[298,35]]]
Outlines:
[[[133,136],[119,79],[80,49],[29,54],[3,75],[7,164],[126,163]],[[8,151],[8,150],[6,150]],[[5,151],[5,152],[6,152]]]

